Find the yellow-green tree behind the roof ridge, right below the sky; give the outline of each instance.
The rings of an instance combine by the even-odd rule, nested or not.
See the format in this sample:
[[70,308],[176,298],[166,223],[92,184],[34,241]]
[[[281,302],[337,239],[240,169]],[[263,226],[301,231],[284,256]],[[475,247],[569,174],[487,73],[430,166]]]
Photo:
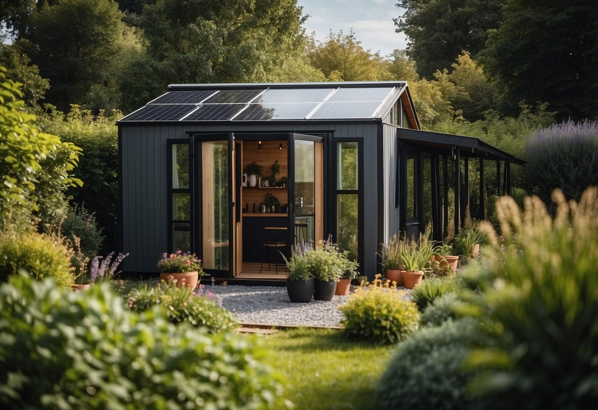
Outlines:
[[392,79],[385,61],[379,53],[361,47],[353,31],[343,35],[343,31],[329,33],[327,41],[309,39],[306,59],[319,69],[328,81],[377,81]]

